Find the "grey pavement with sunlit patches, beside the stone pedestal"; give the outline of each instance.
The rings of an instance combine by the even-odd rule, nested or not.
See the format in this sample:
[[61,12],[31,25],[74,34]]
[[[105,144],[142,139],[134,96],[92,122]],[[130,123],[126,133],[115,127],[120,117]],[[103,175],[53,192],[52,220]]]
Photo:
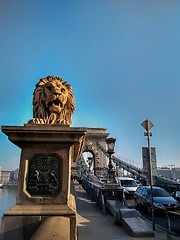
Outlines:
[[[77,205],[77,240],[180,240],[179,236],[171,235],[156,226],[155,237],[131,237],[121,225],[114,222],[110,214],[103,215],[86,191],[77,181],[71,182],[71,193]],[[149,220],[147,223],[152,225]]]

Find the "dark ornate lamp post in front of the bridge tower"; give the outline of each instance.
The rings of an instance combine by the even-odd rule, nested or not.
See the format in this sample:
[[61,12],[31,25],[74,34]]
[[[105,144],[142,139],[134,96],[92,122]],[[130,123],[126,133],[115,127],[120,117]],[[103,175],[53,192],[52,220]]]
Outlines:
[[107,153],[109,154],[109,163],[108,163],[108,182],[115,183],[115,171],[113,170],[112,165],[112,155],[114,154],[114,146],[115,146],[116,139],[115,138],[107,138]]

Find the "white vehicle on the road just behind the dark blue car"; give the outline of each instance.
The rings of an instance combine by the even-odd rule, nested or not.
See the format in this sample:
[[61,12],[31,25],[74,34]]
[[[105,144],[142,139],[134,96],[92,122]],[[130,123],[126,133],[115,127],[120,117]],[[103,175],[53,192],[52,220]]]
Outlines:
[[125,196],[127,198],[133,198],[134,197],[134,193],[135,193],[138,185],[133,178],[116,177],[116,181],[118,183],[120,183],[120,185],[123,187]]

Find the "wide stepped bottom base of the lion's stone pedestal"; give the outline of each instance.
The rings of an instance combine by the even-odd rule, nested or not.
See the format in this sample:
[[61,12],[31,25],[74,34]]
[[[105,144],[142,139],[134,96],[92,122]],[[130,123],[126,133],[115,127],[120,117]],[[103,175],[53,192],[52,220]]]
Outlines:
[[15,205],[3,215],[1,240],[29,240],[50,217],[70,219],[70,240],[76,240],[76,205],[74,197],[70,196],[68,205]]

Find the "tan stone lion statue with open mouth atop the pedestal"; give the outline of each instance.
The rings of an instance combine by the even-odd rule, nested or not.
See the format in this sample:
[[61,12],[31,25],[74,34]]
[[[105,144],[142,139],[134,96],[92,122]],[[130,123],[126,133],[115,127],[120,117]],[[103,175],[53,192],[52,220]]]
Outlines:
[[33,120],[29,123],[71,125],[74,110],[70,84],[60,77],[41,78],[33,93]]

